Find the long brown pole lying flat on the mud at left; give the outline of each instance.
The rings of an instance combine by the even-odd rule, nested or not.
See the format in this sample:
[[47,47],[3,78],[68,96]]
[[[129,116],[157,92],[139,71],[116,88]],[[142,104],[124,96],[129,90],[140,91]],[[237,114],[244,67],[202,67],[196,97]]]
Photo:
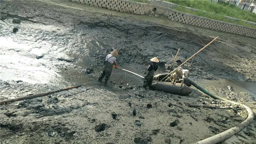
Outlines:
[[19,97],[19,98],[14,98],[14,99],[10,99],[10,100],[0,101],[0,105],[5,104],[5,103],[9,103],[9,102],[15,102],[15,101],[21,101],[21,100],[27,100],[27,99],[32,99],[32,98],[36,98],[36,97],[46,96],[46,95],[49,95],[49,94],[53,94],[55,92],[74,89],[74,88],[80,87],[82,85],[84,85],[84,84],[65,87],[63,89],[59,89],[59,90],[55,90],[55,91],[49,91],[49,92],[46,92],[46,93],[41,93],[41,94],[36,94],[36,95],[30,95],[30,96],[25,96],[25,97]]

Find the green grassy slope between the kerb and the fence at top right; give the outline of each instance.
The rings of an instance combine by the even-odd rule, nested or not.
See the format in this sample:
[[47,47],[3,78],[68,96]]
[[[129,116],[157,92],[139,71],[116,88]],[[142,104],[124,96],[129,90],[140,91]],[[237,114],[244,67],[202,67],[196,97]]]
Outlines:
[[256,14],[248,11],[243,11],[234,4],[214,3],[208,0],[166,0],[181,6],[188,6],[194,9],[204,10],[210,13],[218,14],[221,16],[230,16],[239,18],[241,20],[256,22]]

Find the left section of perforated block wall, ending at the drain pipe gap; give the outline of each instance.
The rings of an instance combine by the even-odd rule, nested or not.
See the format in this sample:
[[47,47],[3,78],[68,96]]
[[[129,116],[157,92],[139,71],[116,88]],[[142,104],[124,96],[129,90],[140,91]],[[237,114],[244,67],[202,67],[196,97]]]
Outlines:
[[146,4],[128,0],[71,0],[81,4],[102,7],[119,12],[143,15]]

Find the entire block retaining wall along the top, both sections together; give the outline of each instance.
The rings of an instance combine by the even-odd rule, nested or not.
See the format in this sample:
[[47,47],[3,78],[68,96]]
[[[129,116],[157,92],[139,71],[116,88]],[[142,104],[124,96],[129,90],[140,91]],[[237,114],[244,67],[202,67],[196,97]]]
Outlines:
[[[160,0],[149,0],[151,4],[144,4],[140,2],[128,1],[128,0],[70,0],[79,2],[81,4],[87,4],[91,6],[102,7],[119,12],[128,12],[132,14],[143,15],[152,8],[156,7],[161,9],[161,13],[164,13],[169,19],[176,22],[186,23],[188,25],[199,26],[203,28],[208,28],[211,30],[218,30],[223,32],[229,32],[234,34],[239,34],[246,37],[256,38],[256,29],[235,25],[233,23],[213,20],[210,18],[195,16],[191,14],[186,14],[180,11],[169,9],[169,7],[177,7],[177,4],[171,2],[160,1]],[[185,7],[190,10],[191,7]],[[159,9],[159,10],[160,10]],[[157,10],[157,12],[160,12]]]

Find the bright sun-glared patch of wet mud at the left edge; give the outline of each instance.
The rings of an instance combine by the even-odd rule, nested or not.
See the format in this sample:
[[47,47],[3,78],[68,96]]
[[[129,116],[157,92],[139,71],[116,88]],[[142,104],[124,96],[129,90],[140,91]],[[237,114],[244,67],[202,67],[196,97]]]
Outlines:
[[36,58],[48,53],[47,49],[34,48],[31,44],[14,42],[5,37],[0,37],[0,42],[1,80],[47,84],[62,79],[59,70],[49,60]]

